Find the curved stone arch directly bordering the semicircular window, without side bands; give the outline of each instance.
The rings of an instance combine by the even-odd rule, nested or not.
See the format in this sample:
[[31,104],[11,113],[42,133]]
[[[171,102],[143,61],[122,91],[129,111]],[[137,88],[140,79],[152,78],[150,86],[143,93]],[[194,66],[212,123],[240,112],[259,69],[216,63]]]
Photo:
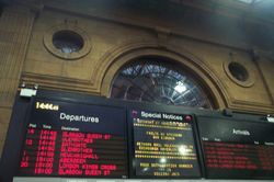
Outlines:
[[217,76],[215,76],[215,73],[204,64],[202,59],[197,58],[190,52],[182,49],[181,47],[161,47],[157,43],[153,44],[142,42],[128,44],[105,55],[102,58],[102,69],[99,69],[99,71],[104,72],[101,82],[101,95],[106,98],[110,96],[112,81],[124,65],[130,62],[134,59],[146,56],[163,57],[165,59],[179,62],[182,68],[186,68],[198,79],[201,79],[198,82],[203,84],[206,91],[210,92],[209,95],[210,99],[213,99],[213,104],[216,109],[227,107],[228,96],[225,88],[220,83],[220,80],[217,78]]

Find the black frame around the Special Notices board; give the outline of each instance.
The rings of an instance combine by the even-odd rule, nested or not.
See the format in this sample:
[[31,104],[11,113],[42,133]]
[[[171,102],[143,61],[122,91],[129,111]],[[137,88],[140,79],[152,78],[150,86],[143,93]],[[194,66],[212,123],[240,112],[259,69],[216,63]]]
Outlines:
[[[134,126],[133,123],[130,123],[130,112],[133,110],[137,111],[149,111],[149,112],[158,112],[158,113],[169,113],[169,114],[182,114],[182,115],[190,115],[192,117],[192,134],[193,134],[193,141],[196,149],[196,157],[197,157],[197,166],[198,166],[198,172],[199,174],[197,177],[153,177],[153,175],[136,175],[136,167],[135,167],[135,144],[134,144]],[[129,178],[130,179],[172,179],[172,180],[179,180],[179,179],[201,179],[204,177],[204,163],[203,163],[203,155],[201,153],[201,146],[198,143],[198,135],[197,135],[197,128],[196,128],[196,122],[194,114],[187,110],[182,111],[179,106],[167,106],[167,105],[156,105],[156,104],[135,104],[127,107],[127,123],[128,123],[128,148],[130,148],[128,153],[128,161],[129,161]]]

